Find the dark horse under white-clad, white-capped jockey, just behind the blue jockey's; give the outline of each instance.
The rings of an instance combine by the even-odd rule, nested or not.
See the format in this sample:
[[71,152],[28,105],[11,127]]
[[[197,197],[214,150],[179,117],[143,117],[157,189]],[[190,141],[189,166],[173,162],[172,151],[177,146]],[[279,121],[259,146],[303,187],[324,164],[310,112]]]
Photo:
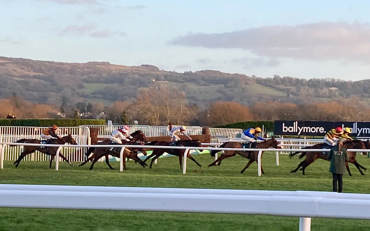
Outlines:
[[[170,143],[166,142],[166,141],[157,141],[156,140],[156,141],[149,142],[145,145],[169,146],[169,144]],[[198,140],[198,139],[180,140],[179,145],[185,146],[185,147],[203,147],[201,141]],[[202,150],[202,149],[200,149],[200,150]],[[154,160],[158,159],[158,157],[161,156],[165,152],[168,153],[168,154],[174,155],[174,156],[178,156],[179,157],[179,163],[180,163],[180,169],[182,169],[182,157],[184,156],[185,149],[171,149],[171,147],[168,147],[168,149],[154,148],[152,154],[150,156],[147,156],[147,159],[144,160],[144,163],[147,160],[149,160],[151,157],[154,156],[151,163],[150,163],[150,166],[149,166],[149,168],[152,168],[152,164],[153,164]],[[189,159],[194,161],[199,167],[202,167],[198,162],[196,162],[196,160],[190,155],[189,152],[188,152],[188,154],[186,154],[186,157],[188,157]]]

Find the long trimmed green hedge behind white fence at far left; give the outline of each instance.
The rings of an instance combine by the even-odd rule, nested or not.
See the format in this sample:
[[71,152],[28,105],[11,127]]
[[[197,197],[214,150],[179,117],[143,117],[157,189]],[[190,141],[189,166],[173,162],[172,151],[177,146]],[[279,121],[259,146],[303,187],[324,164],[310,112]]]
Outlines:
[[105,125],[104,119],[0,119],[0,126],[78,127],[80,125]]

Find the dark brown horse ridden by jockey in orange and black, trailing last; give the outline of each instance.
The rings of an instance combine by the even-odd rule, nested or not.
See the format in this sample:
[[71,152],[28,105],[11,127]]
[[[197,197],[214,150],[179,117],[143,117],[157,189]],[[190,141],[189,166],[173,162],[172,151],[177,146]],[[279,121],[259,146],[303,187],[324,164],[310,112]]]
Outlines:
[[[41,143],[41,140],[38,139],[20,139],[17,140],[16,143]],[[76,141],[72,138],[71,134],[68,134],[68,136],[64,136],[58,139],[51,139],[50,145],[64,145],[65,143],[70,143],[71,145],[77,145]],[[10,145],[11,147],[14,147],[16,145]],[[24,145],[24,150],[21,152],[19,158],[14,162],[13,164],[18,167],[19,163],[21,160],[27,156],[28,154],[31,154],[35,151],[39,151],[41,153],[45,153],[51,156],[50,158],[50,166],[49,168],[51,169],[51,163],[53,162],[54,157],[57,154],[58,147],[41,147],[41,146],[26,146]],[[73,166],[73,164],[67,160],[61,153],[59,153],[59,156],[65,160],[70,166]]]

